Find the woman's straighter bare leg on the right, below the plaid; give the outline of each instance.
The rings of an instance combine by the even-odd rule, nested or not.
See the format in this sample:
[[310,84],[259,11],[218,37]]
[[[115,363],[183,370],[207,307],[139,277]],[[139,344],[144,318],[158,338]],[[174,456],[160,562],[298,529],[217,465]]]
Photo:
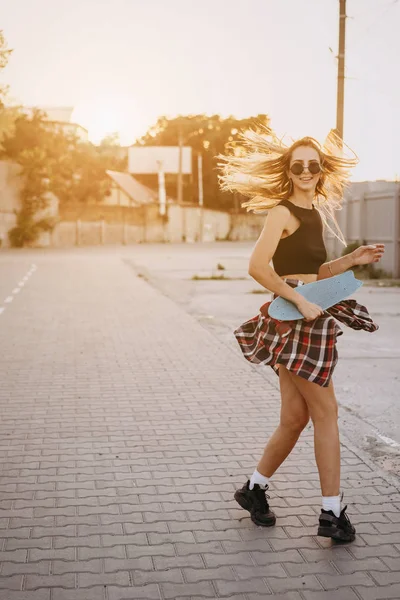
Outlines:
[[340,493],[340,441],[338,406],[331,381],[321,387],[290,373],[293,383],[307,403],[314,424],[314,449],[323,496]]

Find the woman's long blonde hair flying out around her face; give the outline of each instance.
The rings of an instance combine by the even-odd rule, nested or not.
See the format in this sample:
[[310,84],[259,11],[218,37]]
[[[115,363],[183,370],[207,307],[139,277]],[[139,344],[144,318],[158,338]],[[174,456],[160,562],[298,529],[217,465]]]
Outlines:
[[228,144],[231,154],[218,156],[222,161],[218,163],[221,188],[250,197],[241,206],[247,212],[262,213],[291,196],[288,171],[293,150],[300,146],[314,148],[321,163],[315,188],[317,209],[324,225],[346,245],[334,212],[342,207],[350,169],[358,158],[354,152],[352,157],[344,156],[342,140],[336,133],[332,130],[323,145],[312,137],[304,137],[287,146],[271,129],[260,126],[258,130],[241,133],[240,139],[241,143]]

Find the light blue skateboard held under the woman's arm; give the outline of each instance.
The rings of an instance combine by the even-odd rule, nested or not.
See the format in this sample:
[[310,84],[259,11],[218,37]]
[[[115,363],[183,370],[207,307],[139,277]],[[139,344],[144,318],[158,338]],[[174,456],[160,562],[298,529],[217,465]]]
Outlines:
[[[346,271],[334,277],[297,286],[296,292],[309,302],[318,304],[323,310],[354,294],[362,286],[362,281],[354,277],[353,271]],[[268,314],[279,321],[296,321],[303,315],[289,300],[275,298],[268,307]]]

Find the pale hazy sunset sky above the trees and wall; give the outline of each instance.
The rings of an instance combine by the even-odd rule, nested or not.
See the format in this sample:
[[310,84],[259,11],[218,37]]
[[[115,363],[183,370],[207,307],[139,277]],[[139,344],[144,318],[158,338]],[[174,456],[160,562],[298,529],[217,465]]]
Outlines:
[[[400,0],[347,0],[354,180],[400,178]],[[74,106],[131,144],[161,115],[266,113],[285,140],[336,123],[339,0],[0,0],[14,102]]]

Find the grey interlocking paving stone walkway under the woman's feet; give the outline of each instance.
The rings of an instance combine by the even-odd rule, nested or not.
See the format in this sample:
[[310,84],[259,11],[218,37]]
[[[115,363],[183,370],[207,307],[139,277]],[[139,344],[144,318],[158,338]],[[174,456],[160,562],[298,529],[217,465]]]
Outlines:
[[33,260],[0,317],[0,600],[400,599],[393,481],[344,440],[358,536],[316,537],[308,428],[272,480],[276,527],[256,527],[232,495],[277,424],[272,371],[118,253]]

